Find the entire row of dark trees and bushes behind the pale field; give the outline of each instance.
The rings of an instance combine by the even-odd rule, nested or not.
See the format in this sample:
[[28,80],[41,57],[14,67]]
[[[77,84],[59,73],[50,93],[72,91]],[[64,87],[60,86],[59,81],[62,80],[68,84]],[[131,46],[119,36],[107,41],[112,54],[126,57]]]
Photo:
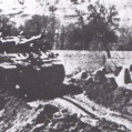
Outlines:
[[22,34],[30,38],[44,33],[41,42],[47,43],[48,49],[105,50],[109,58],[110,50],[132,50],[132,30],[119,27],[120,19],[115,6],[105,8],[99,1],[89,4],[87,22],[83,14],[77,10],[78,21],[67,26],[60,23],[53,11],[49,17],[34,14],[19,28],[10,18],[1,16],[1,37]]

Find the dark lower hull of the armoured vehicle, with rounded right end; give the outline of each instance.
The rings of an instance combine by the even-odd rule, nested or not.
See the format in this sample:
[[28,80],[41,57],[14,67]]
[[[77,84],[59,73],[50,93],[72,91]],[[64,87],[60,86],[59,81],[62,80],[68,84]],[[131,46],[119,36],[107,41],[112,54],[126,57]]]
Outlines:
[[[59,60],[58,60],[59,61]],[[42,97],[58,91],[64,79],[64,67],[53,59],[42,59],[40,63],[13,59],[0,64],[0,84],[22,95]]]

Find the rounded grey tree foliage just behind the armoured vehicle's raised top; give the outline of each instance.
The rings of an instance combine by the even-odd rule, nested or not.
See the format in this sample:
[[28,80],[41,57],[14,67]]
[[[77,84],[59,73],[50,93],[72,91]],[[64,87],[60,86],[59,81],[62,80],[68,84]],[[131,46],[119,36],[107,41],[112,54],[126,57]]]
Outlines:
[[38,16],[34,14],[30,20],[27,20],[23,27],[20,29],[23,31],[27,38],[37,35],[40,33],[44,34],[41,42],[49,43],[49,49],[54,44],[55,30],[59,22],[55,17]]

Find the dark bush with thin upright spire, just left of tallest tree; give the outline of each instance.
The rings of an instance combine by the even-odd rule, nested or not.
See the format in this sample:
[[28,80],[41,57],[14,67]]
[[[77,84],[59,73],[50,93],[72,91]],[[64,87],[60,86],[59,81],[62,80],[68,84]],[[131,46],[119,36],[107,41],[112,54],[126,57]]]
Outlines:
[[89,50],[89,43],[92,41],[93,29],[90,24],[85,24],[83,13],[77,10],[78,22],[68,26],[69,41],[72,44],[72,49]]

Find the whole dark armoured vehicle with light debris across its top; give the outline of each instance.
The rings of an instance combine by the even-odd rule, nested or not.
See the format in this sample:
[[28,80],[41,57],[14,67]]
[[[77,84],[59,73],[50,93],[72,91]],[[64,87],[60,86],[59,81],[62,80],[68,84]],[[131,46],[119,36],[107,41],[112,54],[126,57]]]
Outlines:
[[[23,95],[48,95],[57,92],[64,79],[64,67],[58,54],[42,50],[42,35],[12,41],[1,40],[0,84]],[[11,52],[10,52],[11,51]]]

